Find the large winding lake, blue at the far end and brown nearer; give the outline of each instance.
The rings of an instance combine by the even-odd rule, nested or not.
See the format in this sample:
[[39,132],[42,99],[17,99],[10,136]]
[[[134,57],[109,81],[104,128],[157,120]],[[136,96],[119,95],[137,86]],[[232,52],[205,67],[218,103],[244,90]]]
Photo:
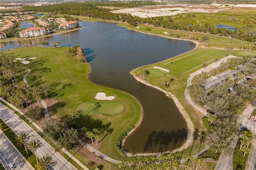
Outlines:
[[[196,44],[130,31],[116,23],[80,22],[80,26],[83,28],[70,33],[33,39],[32,44],[59,41],[62,47],[80,45],[91,67],[92,82],[124,91],[140,102],[143,119],[124,143],[128,152],[158,152],[160,146],[166,151],[181,147],[186,141],[187,125],[173,100],[138,82],[130,71],[186,53]],[[2,43],[1,50],[16,47],[15,43]]]

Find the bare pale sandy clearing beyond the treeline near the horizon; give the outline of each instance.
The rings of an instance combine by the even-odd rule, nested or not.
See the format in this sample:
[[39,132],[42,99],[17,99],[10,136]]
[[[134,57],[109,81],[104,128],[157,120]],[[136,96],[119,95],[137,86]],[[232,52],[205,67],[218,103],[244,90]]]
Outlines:
[[[220,10],[228,10],[232,8],[232,5],[176,5],[176,6],[150,6],[141,8],[125,8],[121,10],[112,11],[113,13],[126,13],[132,16],[139,16],[141,18],[157,17],[157,16],[174,16],[177,14],[188,13],[188,12],[202,12],[202,13],[215,13]],[[250,7],[256,8],[256,5],[234,5],[234,7]]]

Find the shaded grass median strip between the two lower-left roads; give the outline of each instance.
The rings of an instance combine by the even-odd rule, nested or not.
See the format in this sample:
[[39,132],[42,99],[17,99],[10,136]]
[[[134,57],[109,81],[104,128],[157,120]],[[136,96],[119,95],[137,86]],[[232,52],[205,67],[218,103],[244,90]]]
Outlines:
[[30,163],[31,166],[33,166],[34,169],[36,168],[36,156],[28,150],[28,154],[24,147],[17,146],[17,143],[15,141],[15,133],[0,119],[1,123],[1,130],[4,132],[4,134],[8,137],[8,139],[12,142],[12,144],[19,150],[19,152],[24,156],[24,158]]

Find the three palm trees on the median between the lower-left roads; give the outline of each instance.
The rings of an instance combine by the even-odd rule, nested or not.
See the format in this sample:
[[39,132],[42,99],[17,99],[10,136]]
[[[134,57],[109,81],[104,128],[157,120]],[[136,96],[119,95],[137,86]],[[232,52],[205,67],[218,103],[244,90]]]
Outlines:
[[24,146],[27,154],[28,154],[28,149],[32,149],[35,152],[36,155],[36,163],[37,163],[37,168],[38,170],[47,170],[48,165],[54,164],[54,161],[52,161],[52,157],[49,155],[44,155],[42,158],[37,157],[36,154],[36,149],[40,148],[42,146],[42,142],[39,140],[33,139],[30,142],[26,142],[28,139],[30,139],[30,136],[27,133],[20,133],[18,136],[15,137],[17,141],[17,145]]

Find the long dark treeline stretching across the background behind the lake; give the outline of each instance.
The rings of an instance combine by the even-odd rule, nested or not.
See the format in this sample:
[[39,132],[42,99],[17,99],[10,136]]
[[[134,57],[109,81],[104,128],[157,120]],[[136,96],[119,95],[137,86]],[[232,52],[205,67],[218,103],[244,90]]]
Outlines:
[[[23,10],[33,12],[50,12],[53,14],[86,16],[102,20],[114,20],[127,22],[132,26],[138,24],[149,24],[155,27],[163,27],[165,29],[196,31],[210,33],[214,35],[232,37],[242,41],[249,41],[256,43],[256,35],[249,33],[245,29],[236,29],[231,31],[229,29],[217,28],[214,25],[206,23],[205,25],[189,25],[188,21],[174,21],[171,16],[140,18],[132,16],[131,14],[114,14],[111,9],[101,8],[96,3],[62,3],[51,6],[23,6]],[[190,18],[196,18],[196,14],[188,14]],[[250,25],[248,25],[250,27]]]

